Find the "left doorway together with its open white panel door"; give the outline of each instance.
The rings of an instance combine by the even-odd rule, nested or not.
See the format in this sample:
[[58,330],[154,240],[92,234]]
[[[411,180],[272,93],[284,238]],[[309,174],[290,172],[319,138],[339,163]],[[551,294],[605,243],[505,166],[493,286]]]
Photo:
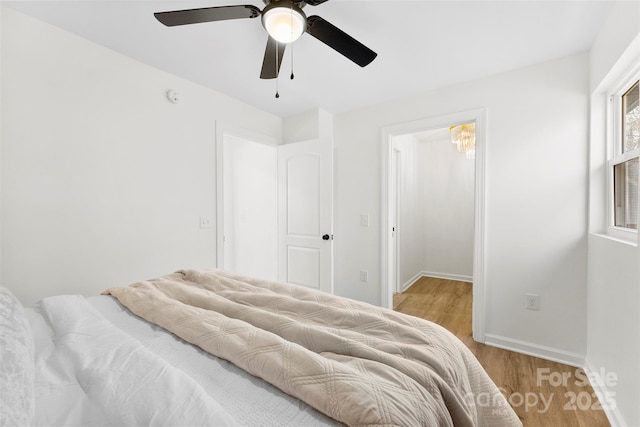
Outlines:
[[333,292],[333,141],[216,130],[220,269]]

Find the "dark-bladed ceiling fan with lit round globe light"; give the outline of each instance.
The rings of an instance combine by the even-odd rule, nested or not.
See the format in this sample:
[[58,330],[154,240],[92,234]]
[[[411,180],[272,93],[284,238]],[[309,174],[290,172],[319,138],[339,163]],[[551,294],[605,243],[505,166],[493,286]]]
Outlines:
[[318,6],[327,0],[263,1],[266,5],[263,10],[253,5],[217,6],[157,12],[154,13],[154,16],[168,27],[261,17],[262,26],[269,34],[260,72],[261,79],[278,77],[286,45],[297,40],[304,32],[335,49],[361,67],[371,63],[377,56],[373,50],[335,25],[316,15],[307,17],[302,11],[306,5]]

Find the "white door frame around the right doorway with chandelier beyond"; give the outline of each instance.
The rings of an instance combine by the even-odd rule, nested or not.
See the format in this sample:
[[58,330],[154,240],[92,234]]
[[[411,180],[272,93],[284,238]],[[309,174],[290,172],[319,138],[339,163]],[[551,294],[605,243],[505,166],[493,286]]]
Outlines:
[[472,329],[473,339],[477,342],[485,341],[485,221],[486,221],[486,109],[472,110],[444,114],[435,117],[415,120],[384,127],[381,135],[381,254],[380,301],[383,307],[393,308],[393,239],[391,238],[391,209],[392,183],[391,177],[393,161],[393,137],[418,133],[426,130],[439,129],[453,125],[476,123],[476,153],[475,153],[475,183],[474,183],[474,242],[473,242],[473,308]]

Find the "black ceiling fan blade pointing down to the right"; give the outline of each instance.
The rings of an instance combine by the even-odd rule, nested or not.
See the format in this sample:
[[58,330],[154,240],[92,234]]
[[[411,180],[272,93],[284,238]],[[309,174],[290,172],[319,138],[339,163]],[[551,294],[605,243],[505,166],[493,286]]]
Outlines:
[[371,61],[378,56],[377,53],[358,40],[319,16],[310,16],[307,18],[307,33],[340,52],[361,67],[369,65]]

